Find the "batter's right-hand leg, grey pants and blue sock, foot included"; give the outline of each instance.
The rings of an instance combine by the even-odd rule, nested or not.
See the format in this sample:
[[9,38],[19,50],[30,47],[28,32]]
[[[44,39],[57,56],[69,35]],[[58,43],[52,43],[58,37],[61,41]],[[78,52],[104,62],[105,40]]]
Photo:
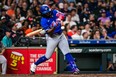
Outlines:
[[72,72],[79,73],[79,69],[78,69],[77,65],[75,64],[74,58],[69,53],[70,49],[69,49],[68,41],[64,34],[62,35],[58,46],[61,49],[62,53],[65,55],[67,62],[72,67]]

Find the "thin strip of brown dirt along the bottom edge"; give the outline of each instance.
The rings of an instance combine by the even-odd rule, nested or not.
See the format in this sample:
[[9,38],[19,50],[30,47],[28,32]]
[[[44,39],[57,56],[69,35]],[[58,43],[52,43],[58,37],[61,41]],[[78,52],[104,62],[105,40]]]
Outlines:
[[19,75],[19,74],[9,74],[0,75],[0,77],[116,77],[116,74],[56,74],[56,75]]

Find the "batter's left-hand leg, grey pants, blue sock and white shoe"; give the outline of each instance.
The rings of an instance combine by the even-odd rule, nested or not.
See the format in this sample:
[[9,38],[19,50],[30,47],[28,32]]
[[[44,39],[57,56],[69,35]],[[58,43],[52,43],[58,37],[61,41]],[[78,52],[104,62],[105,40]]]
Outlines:
[[51,37],[47,37],[47,48],[46,48],[46,53],[44,56],[40,57],[35,63],[33,63],[31,65],[31,72],[34,73],[35,72],[35,69],[36,69],[36,66],[39,65],[40,63],[42,62],[45,62],[46,60],[48,60],[54,49],[56,48],[58,44],[58,39],[57,38],[51,38]]

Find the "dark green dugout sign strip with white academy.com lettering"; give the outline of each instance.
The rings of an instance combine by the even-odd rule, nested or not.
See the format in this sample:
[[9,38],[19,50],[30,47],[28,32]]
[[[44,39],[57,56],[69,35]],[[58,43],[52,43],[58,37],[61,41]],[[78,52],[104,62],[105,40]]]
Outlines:
[[71,47],[71,53],[116,53],[115,47]]

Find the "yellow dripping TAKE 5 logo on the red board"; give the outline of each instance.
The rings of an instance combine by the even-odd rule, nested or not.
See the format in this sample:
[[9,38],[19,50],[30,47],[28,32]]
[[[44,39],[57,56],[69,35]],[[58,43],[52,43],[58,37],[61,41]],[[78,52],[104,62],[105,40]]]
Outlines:
[[19,52],[13,51],[10,55],[10,58],[12,59],[10,63],[10,68],[13,70],[18,70],[18,63],[24,64],[24,56]]

